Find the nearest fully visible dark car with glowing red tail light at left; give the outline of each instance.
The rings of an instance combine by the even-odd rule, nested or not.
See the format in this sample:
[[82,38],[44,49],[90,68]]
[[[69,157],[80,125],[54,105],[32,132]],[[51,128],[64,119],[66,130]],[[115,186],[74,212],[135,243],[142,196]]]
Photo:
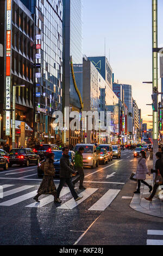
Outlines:
[[9,153],[9,166],[12,164],[20,164],[23,166],[25,164],[27,167],[29,164],[39,164],[40,157],[34,153],[30,148],[25,149],[11,149]]

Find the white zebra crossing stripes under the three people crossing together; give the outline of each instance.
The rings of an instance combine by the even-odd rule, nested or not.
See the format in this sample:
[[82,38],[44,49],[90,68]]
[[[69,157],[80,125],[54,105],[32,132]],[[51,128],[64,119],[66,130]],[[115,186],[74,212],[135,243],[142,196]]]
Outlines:
[[[4,184],[1,185],[1,187],[3,187],[3,197],[0,198],[0,207],[1,206],[13,206],[16,204],[20,204],[20,203],[24,203],[24,202],[28,202],[28,200],[31,200],[37,193],[37,190],[34,190],[35,186],[29,186],[29,185],[25,185],[25,186],[20,186],[20,187],[16,187],[14,188],[14,186],[16,185],[12,185],[12,184]],[[78,205],[82,204],[86,199],[91,198],[95,192],[97,192],[100,188],[86,188],[85,191],[79,193],[79,196],[83,197],[81,200],[75,202],[75,200],[72,198],[70,190],[68,187],[64,187],[62,188],[61,194],[60,194],[60,198],[62,200],[64,200],[64,196],[66,196],[67,201],[64,203],[62,203],[61,205],[59,205],[58,207],[56,207],[56,209],[64,209],[64,210],[73,210],[74,208],[76,208]],[[5,190],[5,191],[4,191]],[[6,191],[7,190],[7,191]],[[33,191],[30,191],[33,190]],[[89,210],[89,211],[104,211],[110,204],[111,202],[117,197],[118,193],[120,193],[121,190],[111,190],[109,189],[108,191],[104,192],[103,195],[101,195],[101,193],[99,193],[99,197],[97,199],[97,202],[94,203],[93,201],[93,205],[90,207],[87,206],[88,209],[85,210]],[[19,195],[19,193],[21,193],[21,195]],[[23,194],[22,194],[23,193]],[[6,199],[6,197],[12,197],[10,199]],[[96,194],[97,196],[97,194]],[[71,197],[71,199],[70,199]],[[34,203],[30,203],[24,207],[26,208],[42,208],[44,206],[48,206],[49,204],[53,203],[54,201],[54,197],[51,195],[47,195],[44,198],[40,198],[40,203],[34,202]],[[91,202],[91,200],[90,200]],[[90,204],[89,202],[89,204]],[[85,206],[84,206],[85,207]]]

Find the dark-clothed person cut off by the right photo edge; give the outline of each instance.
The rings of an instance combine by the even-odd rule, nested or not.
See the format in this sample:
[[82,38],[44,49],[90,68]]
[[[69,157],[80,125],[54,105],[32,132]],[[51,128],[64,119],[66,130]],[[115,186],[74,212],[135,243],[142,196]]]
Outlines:
[[[155,155],[156,155],[156,159],[157,159],[156,162],[155,162],[155,170],[151,169],[151,173],[156,173],[156,175],[158,175],[158,170],[159,170],[161,176],[163,177],[162,154],[161,154],[161,152],[157,152]],[[163,185],[163,183],[161,185]],[[152,199],[153,199],[153,197],[154,197],[154,195],[155,195],[159,186],[160,185],[154,184],[151,196],[149,196],[148,198],[145,197],[145,199],[152,202]]]

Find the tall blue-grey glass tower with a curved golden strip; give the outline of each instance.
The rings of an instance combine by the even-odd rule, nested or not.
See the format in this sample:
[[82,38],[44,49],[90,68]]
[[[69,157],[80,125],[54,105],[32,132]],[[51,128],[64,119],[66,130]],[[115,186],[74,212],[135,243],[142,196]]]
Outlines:
[[[65,107],[80,112],[83,108],[82,0],[64,0],[63,19],[63,112]],[[66,117],[64,117],[66,118]],[[82,134],[64,133],[66,144],[80,142]]]

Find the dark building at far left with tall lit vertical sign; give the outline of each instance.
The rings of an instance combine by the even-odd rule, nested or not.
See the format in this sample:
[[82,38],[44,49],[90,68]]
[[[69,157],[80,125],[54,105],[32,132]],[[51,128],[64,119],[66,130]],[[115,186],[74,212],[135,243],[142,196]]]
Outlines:
[[[4,26],[0,31],[0,44],[4,47],[3,61],[0,63],[1,109],[4,109],[2,137],[11,145],[12,135],[12,86],[16,87],[16,146],[20,142],[21,121],[25,122],[26,143],[33,131],[34,93],[34,19],[32,13],[20,0],[0,2],[0,21]],[[27,129],[29,127],[29,129]]]

